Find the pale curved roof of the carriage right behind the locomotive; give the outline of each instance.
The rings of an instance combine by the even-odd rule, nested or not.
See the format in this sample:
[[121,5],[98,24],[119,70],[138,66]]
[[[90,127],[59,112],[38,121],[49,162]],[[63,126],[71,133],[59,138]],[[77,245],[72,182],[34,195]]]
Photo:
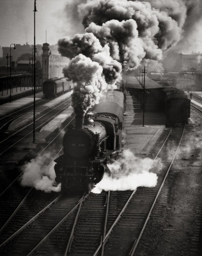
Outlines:
[[118,91],[109,91],[106,96],[100,100],[100,103],[93,106],[93,113],[108,113],[116,115],[120,122],[123,121],[123,93]]

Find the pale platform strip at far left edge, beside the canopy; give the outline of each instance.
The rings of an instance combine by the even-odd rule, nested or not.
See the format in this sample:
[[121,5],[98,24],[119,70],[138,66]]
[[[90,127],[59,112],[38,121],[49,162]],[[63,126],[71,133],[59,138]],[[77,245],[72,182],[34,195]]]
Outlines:
[[[36,93],[36,101],[42,99],[43,92]],[[5,103],[1,105],[0,107],[0,118],[1,116],[9,115],[10,113],[13,113],[14,111],[17,111],[17,109],[26,107],[28,104],[33,102],[33,95],[23,97],[19,100],[13,100],[12,102]]]

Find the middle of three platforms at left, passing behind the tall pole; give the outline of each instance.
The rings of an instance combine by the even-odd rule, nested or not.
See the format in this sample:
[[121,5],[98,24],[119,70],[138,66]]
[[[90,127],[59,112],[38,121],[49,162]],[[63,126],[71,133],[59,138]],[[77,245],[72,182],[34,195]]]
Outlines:
[[[51,100],[50,102],[47,102],[43,106],[40,106],[36,109],[35,117],[42,115],[47,109],[54,109],[59,103],[62,103],[66,99],[70,97],[72,92],[64,93],[63,95],[57,97],[56,99]],[[26,113],[19,118],[16,118],[8,127],[8,132],[14,132],[20,127],[23,127],[24,125],[29,124],[30,122],[33,122],[33,111]]]

